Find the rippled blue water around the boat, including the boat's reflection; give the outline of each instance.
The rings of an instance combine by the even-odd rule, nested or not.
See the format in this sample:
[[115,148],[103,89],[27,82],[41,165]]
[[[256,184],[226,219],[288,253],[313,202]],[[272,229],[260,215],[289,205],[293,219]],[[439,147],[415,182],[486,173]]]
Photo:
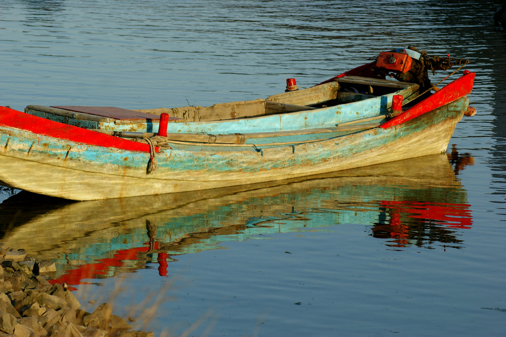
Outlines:
[[4,0],[0,105],[17,110],[256,99],[414,45],[471,61],[478,114],[449,159],[345,177],[83,203],[4,190],[1,240],[155,335],[505,335],[500,5]]

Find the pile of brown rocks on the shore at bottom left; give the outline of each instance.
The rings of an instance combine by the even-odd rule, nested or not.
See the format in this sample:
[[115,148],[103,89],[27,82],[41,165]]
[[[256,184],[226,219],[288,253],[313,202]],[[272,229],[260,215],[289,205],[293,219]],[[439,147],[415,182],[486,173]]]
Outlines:
[[148,337],[113,315],[107,303],[89,313],[66,284],[51,284],[55,264],[27,257],[0,243],[0,337],[118,336]]

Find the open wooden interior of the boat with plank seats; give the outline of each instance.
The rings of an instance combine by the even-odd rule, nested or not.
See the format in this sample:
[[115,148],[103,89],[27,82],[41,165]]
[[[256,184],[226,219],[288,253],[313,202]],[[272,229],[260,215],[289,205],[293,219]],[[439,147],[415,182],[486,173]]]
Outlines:
[[157,121],[161,113],[167,113],[171,117],[170,122],[218,121],[331,107],[382,96],[410,86],[416,86],[414,90],[418,87],[413,83],[345,76],[309,88],[275,94],[267,99],[219,103],[208,107],[128,110],[114,107],[28,106],[25,112],[58,121],[63,119],[65,123],[81,127],[86,125],[79,120],[115,123]]

